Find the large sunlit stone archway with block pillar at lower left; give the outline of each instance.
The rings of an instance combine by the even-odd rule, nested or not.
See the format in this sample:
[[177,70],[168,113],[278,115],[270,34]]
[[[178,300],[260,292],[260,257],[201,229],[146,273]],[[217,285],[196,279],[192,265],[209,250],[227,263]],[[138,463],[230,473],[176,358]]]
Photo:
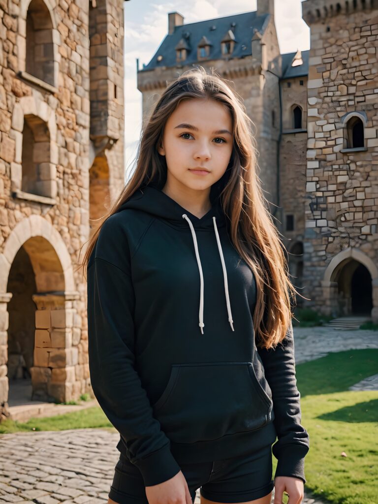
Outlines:
[[11,415],[10,383],[25,401],[62,402],[83,393],[86,383],[78,382],[75,373],[81,339],[78,300],[71,257],[58,231],[39,215],[20,221],[0,254],[0,331],[6,336],[0,342],[0,364],[11,371],[0,377],[0,416]]

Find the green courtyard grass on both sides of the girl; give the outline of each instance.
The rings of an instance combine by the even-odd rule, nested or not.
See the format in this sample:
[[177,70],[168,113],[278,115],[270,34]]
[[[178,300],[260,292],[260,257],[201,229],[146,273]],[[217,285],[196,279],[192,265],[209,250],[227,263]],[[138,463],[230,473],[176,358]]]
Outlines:
[[[301,423],[310,436],[305,489],[314,498],[333,504],[378,502],[378,391],[348,390],[376,373],[378,349],[330,353],[296,365]],[[115,431],[102,410],[94,407],[26,423],[7,420],[0,423],[0,432],[85,427]],[[274,471],[276,465],[273,457]]]

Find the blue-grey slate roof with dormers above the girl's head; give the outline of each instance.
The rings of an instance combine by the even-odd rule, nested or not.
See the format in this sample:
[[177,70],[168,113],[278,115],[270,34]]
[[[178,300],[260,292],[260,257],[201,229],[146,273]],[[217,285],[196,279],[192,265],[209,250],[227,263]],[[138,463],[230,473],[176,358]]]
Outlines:
[[[230,29],[235,35],[235,47],[229,57],[250,56],[252,54],[251,40],[254,36],[254,29],[263,32],[265,29],[264,23],[268,17],[268,14],[257,16],[256,11],[253,11],[176,26],[171,35],[165,36],[151,61],[140,72],[159,67],[175,67],[177,63],[174,48],[181,42],[181,39],[191,47],[191,50],[187,53],[187,58],[183,61],[185,65],[198,62],[197,47],[203,37],[206,37],[212,44],[209,58],[221,59],[224,57],[221,52],[221,41]],[[159,55],[163,56],[161,61],[157,60]]]

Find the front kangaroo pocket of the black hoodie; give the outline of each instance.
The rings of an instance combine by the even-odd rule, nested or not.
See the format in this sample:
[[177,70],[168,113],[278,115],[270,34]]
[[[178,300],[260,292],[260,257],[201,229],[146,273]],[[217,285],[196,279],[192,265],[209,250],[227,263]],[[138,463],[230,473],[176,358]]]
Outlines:
[[255,430],[270,419],[271,398],[251,362],[172,364],[155,417],[175,443]]

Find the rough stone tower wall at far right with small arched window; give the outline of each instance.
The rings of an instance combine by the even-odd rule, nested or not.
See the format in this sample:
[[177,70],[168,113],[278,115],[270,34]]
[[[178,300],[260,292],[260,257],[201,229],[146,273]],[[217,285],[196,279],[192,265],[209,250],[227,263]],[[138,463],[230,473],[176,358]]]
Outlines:
[[[372,300],[377,321],[378,10],[369,2],[340,2],[336,8],[317,0],[302,6],[311,29],[306,293],[311,306],[339,316],[358,305],[358,292],[366,296],[367,311]],[[361,145],[358,128],[352,128],[356,121]]]

